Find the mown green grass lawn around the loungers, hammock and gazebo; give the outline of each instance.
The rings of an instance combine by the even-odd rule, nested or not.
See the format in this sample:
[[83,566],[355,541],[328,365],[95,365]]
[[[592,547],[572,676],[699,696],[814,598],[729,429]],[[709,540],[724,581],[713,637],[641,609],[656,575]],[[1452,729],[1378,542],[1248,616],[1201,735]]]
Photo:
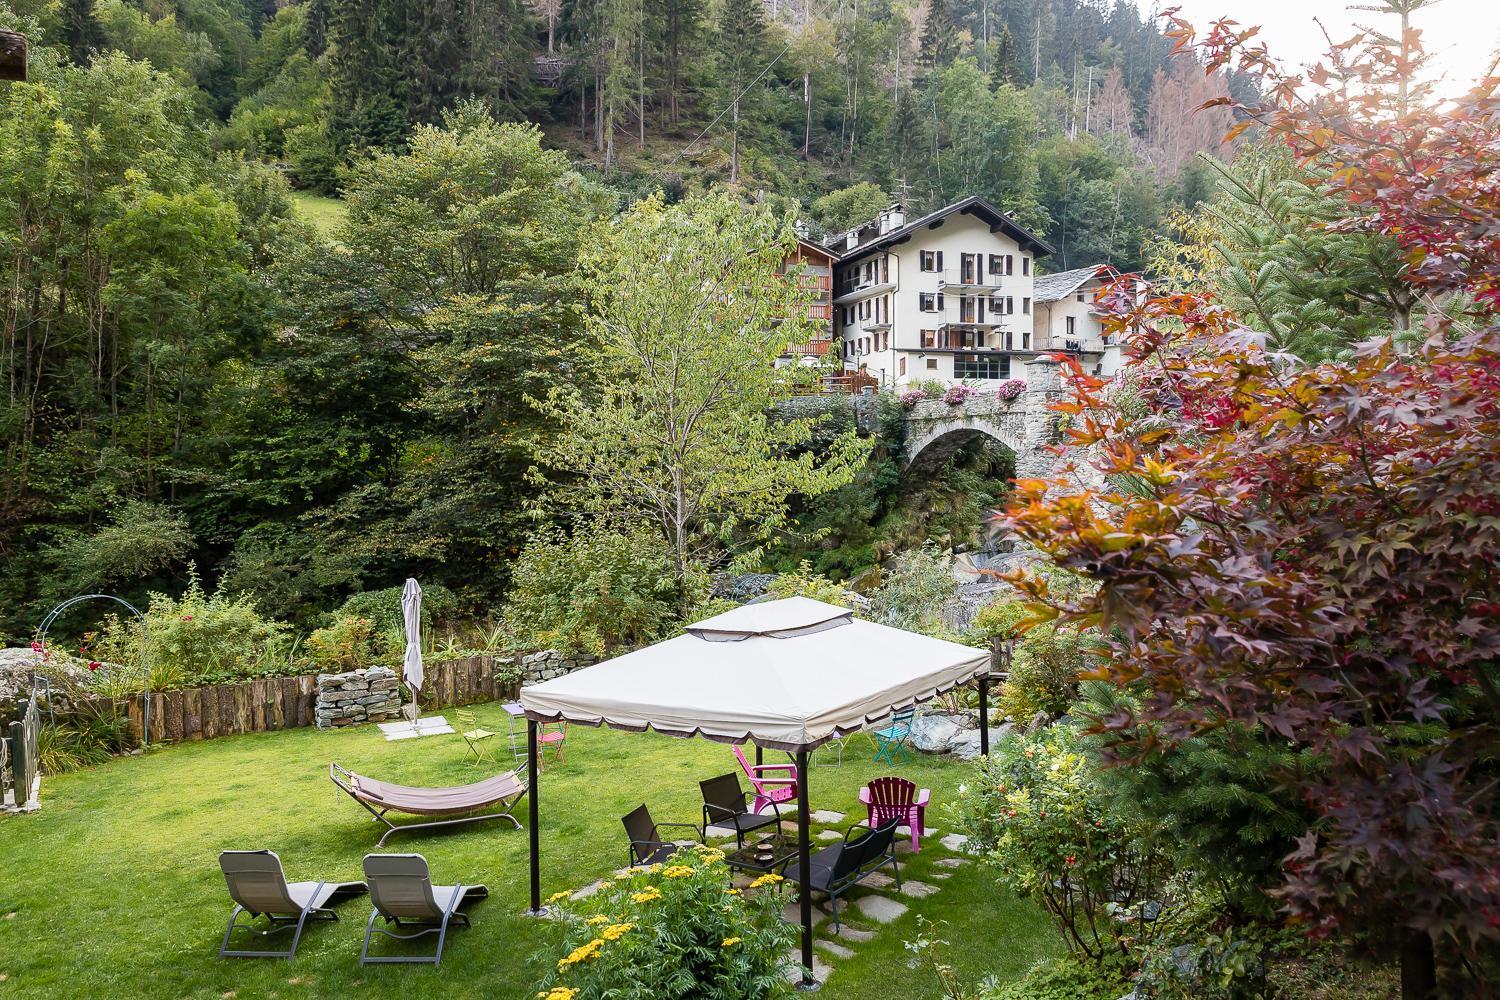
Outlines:
[[[478,715],[504,730],[498,706],[480,706]],[[464,763],[458,736],[387,744],[366,726],[184,744],[46,778],[40,813],[0,817],[0,997],[531,997],[556,958],[558,928],[522,913],[526,834],[508,823],[387,844],[423,853],[438,882],[490,889],[472,909],[474,927],[450,936],[438,969],[360,969],[363,898],[340,907],[339,924],[312,925],[291,963],[216,957],[231,906],[219,850],[270,847],[292,880],[360,877],[378,829],[328,781],[330,760],[406,784],[458,784],[478,774]],[[567,762],[540,781],[543,894],[618,868],[620,817],[642,801],[658,820],[696,820],[698,780],[732,766],[728,747],[702,739],[574,727]],[[902,772],[933,789],[928,823],[946,832],[940,804],[969,768],[920,759]],[[855,796],[874,774],[855,738],[842,768],[813,768],[813,808],[861,819]],[[924,846],[903,859],[903,877],[938,885],[932,873],[945,871],[934,867],[944,855],[936,841]],[[903,949],[918,913],[946,921],[952,958],[974,978],[1017,976],[1060,948],[1036,907],[998,889],[975,864],[956,870],[938,895],[906,903],[904,916],[836,964],[824,996],[936,994],[932,973],[909,969]]]

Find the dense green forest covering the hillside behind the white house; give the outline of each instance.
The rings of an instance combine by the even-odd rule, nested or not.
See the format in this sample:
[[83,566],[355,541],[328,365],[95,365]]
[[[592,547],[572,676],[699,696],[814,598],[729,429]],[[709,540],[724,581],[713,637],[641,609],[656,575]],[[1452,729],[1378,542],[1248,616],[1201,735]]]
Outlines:
[[[408,573],[486,607],[554,517],[526,400],[578,376],[602,219],[728,192],[838,231],[978,193],[1053,270],[1140,267],[1214,190],[1198,153],[1228,159],[1192,108],[1240,87],[1125,1],[0,0],[0,27],[33,42],[0,84],[10,637],[189,567],[296,621]],[[298,190],[340,198],[332,232]],[[876,472],[855,519],[891,510]]]

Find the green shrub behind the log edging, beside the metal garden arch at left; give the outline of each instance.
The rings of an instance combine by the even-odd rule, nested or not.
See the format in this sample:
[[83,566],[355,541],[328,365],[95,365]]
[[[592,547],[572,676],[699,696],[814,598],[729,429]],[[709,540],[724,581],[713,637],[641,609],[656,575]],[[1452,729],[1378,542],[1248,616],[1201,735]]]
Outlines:
[[162,691],[285,669],[290,648],[285,622],[261,615],[249,595],[204,594],[190,573],[182,597],[150,595],[144,643],[140,619],[111,615],[87,655],[138,673],[144,657],[152,690]]

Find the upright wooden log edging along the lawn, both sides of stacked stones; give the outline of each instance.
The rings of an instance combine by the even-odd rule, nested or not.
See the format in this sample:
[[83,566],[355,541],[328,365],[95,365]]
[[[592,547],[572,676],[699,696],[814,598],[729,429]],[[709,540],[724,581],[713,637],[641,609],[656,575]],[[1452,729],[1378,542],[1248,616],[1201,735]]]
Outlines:
[[[426,664],[422,711],[516,697],[519,682],[496,678],[514,663],[510,657],[476,655]],[[118,708],[136,741],[141,739],[146,697],[152,699],[153,744],[302,729],[316,724],[318,675],[254,678],[126,699]]]

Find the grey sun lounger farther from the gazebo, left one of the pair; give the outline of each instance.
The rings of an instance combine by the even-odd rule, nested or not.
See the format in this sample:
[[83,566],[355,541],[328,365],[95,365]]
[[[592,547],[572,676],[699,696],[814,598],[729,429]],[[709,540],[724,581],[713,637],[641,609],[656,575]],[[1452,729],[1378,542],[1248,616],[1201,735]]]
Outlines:
[[[363,882],[286,882],[280,858],[270,850],[226,850],[219,855],[219,868],[230,886],[234,912],[224,930],[219,945],[220,958],[291,958],[297,954],[302,928],[309,921],[338,921],[339,915],[328,909],[350,897],[364,892]],[[240,915],[249,913],[250,922],[240,924]],[[254,927],[264,916],[264,930]],[[230,936],[236,928],[262,937],[292,931],[291,946],[284,952],[230,951]]]

